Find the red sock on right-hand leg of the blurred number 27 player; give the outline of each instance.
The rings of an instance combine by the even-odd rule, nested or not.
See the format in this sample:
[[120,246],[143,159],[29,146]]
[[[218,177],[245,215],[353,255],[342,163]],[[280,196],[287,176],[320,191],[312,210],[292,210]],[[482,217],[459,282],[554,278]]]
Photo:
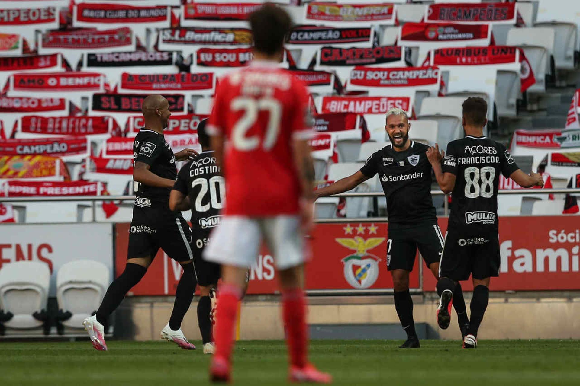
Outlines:
[[286,327],[290,364],[300,368],[305,367],[308,332],[306,327],[306,297],[302,289],[282,290],[282,318],[284,318]]

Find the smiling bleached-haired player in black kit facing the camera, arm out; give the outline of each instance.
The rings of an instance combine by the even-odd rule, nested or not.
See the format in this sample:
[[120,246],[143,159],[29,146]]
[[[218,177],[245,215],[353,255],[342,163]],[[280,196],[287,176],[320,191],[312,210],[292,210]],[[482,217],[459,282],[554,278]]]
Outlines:
[[[389,216],[387,269],[393,275],[395,309],[407,333],[407,341],[400,348],[420,347],[409,293],[409,273],[415,264],[417,249],[436,278],[443,251],[443,235],[431,196],[431,165],[426,155],[429,147],[409,140],[410,128],[403,110],[389,110],[385,129],[391,144],[372,154],[358,172],[315,192],[316,197],[346,192],[379,174]],[[454,294],[455,311],[463,333],[469,321],[461,286],[455,287]]]

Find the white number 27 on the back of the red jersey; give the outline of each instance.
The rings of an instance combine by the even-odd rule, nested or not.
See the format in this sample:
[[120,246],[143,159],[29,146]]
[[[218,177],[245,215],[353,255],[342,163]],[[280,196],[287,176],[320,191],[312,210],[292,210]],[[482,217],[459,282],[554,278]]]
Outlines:
[[237,97],[231,101],[231,110],[244,110],[244,115],[238,122],[235,122],[231,132],[231,139],[234,147],[240,151],[252,151],[260,145],[260,137],[257,135],[248,137],[248,130],[258,121],[258,113],[267,111],[269,113],[266,137],[262,147],[268,151],[274,147],[278,134],[280,133],[280,119],[282,118],[282,108],[280,102],[273,98],[253,99],[249,97]]

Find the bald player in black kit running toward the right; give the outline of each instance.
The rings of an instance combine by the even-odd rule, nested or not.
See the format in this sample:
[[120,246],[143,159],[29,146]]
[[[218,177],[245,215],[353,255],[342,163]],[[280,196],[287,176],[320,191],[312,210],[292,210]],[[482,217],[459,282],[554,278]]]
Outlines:
[[181,330],[183,316],[189,309],[197,285],[189,245],[191,231],[181,212],[169,209],[169,193],[177,178],[175,161],[185,161],[197,155],[197,152],[186,149],[174,155],[166,143],[163,130],[167,128],[171,112],[163,96],[147,96],[143,100],[142,111],[145,127],[139,130],[133,142],[136,198],[129,231],[127,264],[121,276],[108,287],[96,315],[86,318],[83,325],[93,347],[106,351],[104,326],[107,325],[108,316],[119,306],[125,294],[143,278],[161,248],[183,267],[173,312],[169,323],[161,331],[161,337],[184,349],[195,349]]

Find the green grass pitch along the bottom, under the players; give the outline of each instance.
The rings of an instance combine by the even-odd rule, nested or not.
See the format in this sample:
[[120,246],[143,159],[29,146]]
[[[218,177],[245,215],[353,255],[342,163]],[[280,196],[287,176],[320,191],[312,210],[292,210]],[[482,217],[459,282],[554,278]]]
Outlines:
[[[108,342],[108,352],[88,341],[0,342],[1,385],[208,384],[209,355],[165,341]],[[313,341],[310,358],[336,385],[580,385],[580,343],[572,340],[481,341],[466,350],[459,341],[423,340],[420,349],[399,341]],[[283,341],[240,341],[234,384],[287,384]]]

